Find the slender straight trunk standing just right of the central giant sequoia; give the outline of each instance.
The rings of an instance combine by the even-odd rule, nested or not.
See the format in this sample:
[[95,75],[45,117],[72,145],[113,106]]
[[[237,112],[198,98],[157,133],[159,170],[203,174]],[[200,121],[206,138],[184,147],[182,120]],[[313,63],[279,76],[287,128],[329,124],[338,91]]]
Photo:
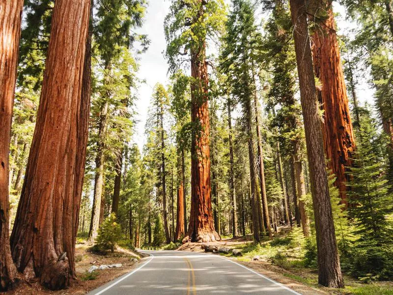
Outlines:
[[237,232],[237,206],[236,206],[236,194],[235,194],[235,175],[233,172],[234,160],[233,160],[233,143],[232,143],[232,118],[230,110],[230,100],[228,98],[228,133],[229,133],[229,195],[231,202],[231,215],[232,215],[232,236],[236,237]]

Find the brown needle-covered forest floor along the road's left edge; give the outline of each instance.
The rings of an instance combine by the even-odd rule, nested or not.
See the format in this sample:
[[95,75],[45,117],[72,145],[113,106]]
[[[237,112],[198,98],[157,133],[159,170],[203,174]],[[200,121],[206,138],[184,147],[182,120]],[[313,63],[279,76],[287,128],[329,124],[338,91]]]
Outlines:
[[[39,282],[23,282],[16,289],[7,292],[6,295],[86,294],[136,268],[138,262],[135,259],[133,261],[133,258],[139,261],[142,256],[140,253],[123,247],[117,247],[114,252],[94,253],[85,243],[77,243],[75,260],[78,279],[72,280],[67,290],[50,291],[43,288]],[[99,267],[112,264],[121,264],[122,266],[88,272],[91,266]]]

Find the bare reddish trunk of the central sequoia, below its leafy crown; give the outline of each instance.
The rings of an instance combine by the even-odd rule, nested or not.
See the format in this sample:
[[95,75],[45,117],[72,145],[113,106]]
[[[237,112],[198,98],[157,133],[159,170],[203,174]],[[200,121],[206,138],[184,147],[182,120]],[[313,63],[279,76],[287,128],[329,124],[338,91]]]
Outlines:
[[221,240],[214,229],[211,205],[208,74],[205,45],[191,53],[191,121],[194,124],[191,143],[191,212],[188,240],[209,242]]

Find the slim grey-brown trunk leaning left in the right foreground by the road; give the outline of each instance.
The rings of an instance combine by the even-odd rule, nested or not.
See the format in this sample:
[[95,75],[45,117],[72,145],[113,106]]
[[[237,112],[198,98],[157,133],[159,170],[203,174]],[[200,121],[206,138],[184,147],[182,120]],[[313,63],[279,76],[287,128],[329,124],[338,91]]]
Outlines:
[[307,15],[304,0],[290,0],[296,62],[299,74],[300,98],[309,159],[312,203],[318,256],[318,283],[322,286],[344,286],[338,259],[328,176],[323,150],[323,135],[319,117]]

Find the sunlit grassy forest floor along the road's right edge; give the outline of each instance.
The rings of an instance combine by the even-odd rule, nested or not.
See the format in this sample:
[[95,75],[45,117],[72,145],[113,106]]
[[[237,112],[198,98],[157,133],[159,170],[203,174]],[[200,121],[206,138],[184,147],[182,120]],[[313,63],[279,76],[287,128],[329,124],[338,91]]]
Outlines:
[[[287,285],[301,294],[334,294],[334,295],[393,295],[393,282],[362,283],[344,274],[345,288],[332,289],[318,285],[318,271],[316,268],[306,267],[299,247],[290,245],[288,233],[290,227],[281,227],[273,240],[263,240],[261,245],[255,246],[253,236],[223,238],[209,245],[225,246],[241,250],[243,256],[220,254],[236,260],[275,281]],[[178,251],[203,252],[200,243],[185,243],[178,247]]]

